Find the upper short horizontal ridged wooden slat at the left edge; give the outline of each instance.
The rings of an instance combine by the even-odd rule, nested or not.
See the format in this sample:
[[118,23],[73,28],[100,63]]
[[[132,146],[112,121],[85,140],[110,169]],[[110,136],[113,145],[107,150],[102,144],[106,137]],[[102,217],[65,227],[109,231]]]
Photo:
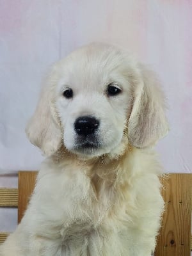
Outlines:
[[0,207],[17,207],[18,189],[0,188]]

